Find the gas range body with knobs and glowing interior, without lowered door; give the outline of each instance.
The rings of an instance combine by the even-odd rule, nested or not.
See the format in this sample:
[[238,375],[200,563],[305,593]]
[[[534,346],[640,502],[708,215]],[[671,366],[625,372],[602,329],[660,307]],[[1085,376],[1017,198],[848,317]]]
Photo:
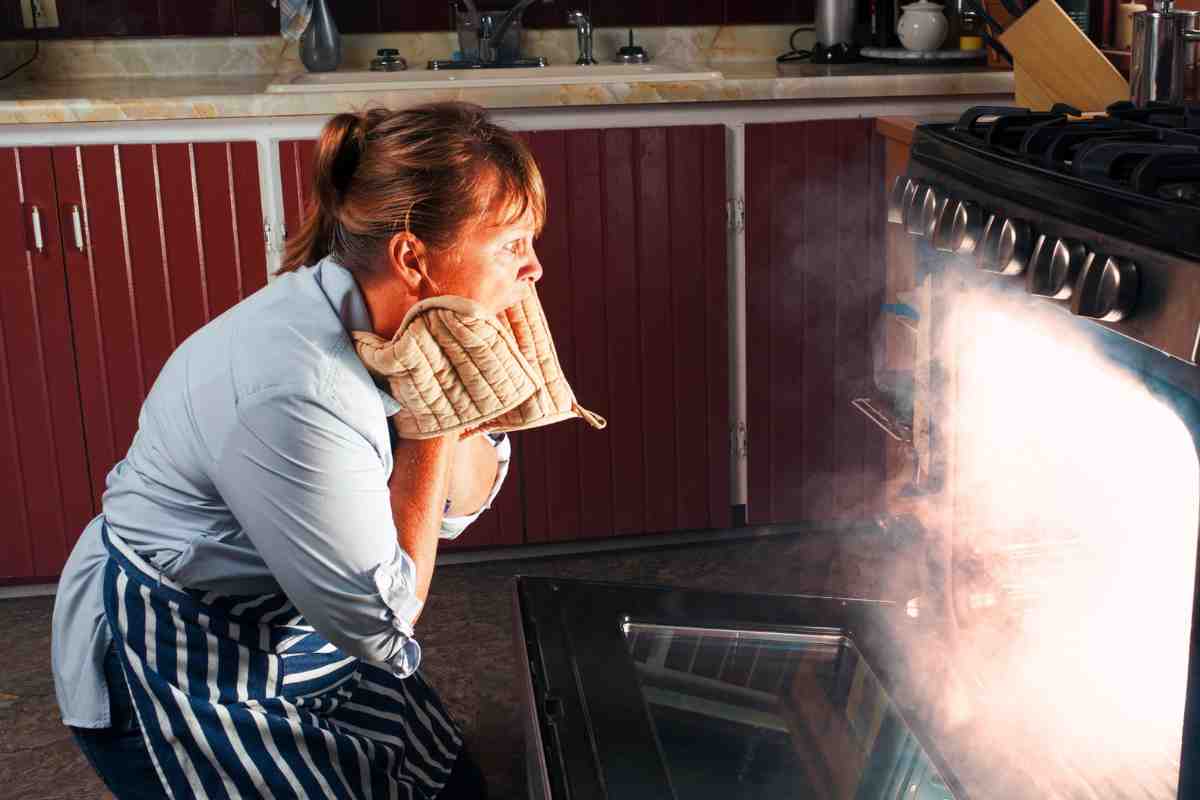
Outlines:
[[1198,190],[1200,108],[1127,103],[970,109],[892,187],[942,699],[1027,796],[1200,798]]

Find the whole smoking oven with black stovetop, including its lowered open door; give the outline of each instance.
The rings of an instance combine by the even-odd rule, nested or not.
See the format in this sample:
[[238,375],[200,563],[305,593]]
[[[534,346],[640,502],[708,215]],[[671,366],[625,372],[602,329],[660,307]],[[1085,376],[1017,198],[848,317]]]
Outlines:
[[1200,800],[1200,110],[917,130],[905,596],[518,579],[530,796]]

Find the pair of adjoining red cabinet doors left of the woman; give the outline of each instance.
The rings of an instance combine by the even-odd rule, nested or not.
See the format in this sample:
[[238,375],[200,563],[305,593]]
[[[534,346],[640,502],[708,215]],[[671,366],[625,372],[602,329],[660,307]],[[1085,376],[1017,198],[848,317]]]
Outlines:
[[[254,143],[0,152],[5,169],[11,160],[10,172],[31,179],[28,192],[0,182],[0,224],[12,234],[4,236],[4,379],[20,380],[10,397],[28,404],[8,417],[19,474],[10,482],[23,483],[12,503],[30,506],[28,543],[5,536],[0,545],[0,581],[11,582],[59,572],[162,365],[192,331],[266,283],[266,251]],[[22,393],[37,385],[36,369],[41,402]],[[40,431],[40,417],[50,431]],[[55,455],[35,452],[38,439]],[[56,516],[41,510],[55,493],[64,498]]]

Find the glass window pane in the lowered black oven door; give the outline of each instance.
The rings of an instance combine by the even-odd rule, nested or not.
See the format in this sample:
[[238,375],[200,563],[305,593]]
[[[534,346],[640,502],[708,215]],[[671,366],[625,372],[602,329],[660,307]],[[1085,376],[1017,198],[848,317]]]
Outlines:
[[950,800],[844,632],[624,631],[680,800]]

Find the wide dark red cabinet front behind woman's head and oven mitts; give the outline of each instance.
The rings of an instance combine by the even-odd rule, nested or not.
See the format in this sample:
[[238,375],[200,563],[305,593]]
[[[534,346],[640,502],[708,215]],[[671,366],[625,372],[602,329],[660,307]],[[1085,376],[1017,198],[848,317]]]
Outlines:
[[[730,524],[725,131],[522,133],[550,205],[539,284],[578,422],[512,437],[493,511],[446,549]],[[280,144],[287,229],[312,142]]]

